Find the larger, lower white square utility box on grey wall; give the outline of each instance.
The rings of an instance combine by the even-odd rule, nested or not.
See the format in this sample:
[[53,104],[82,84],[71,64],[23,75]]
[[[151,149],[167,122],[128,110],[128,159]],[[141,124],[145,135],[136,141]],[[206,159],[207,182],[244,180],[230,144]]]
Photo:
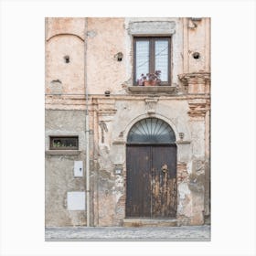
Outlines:
[[85,192],[72,191],[67,194],[69,210],[85,210]]

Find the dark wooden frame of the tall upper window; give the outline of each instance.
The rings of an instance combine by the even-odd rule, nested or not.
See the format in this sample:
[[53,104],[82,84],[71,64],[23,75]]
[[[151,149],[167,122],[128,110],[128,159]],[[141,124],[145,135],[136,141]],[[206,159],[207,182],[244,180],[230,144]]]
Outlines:
[[171,70],[172,70],[172,37],[133,37],[133,85],[137,86],[136,80],[136,42],[149,41],[149,73],[155,72],[155,41],[167,40],[168,41],[168,80],[161,81],[161,86],[171,86]]

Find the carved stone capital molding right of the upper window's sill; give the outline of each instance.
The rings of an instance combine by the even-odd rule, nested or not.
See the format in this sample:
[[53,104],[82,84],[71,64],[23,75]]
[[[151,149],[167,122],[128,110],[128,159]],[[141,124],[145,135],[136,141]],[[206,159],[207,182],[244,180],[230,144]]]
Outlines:
[[188,86],[188,94],[204,94],[208,92],[207,84],[210,80],[209,72],[193,72],[178,75],[179,80]]

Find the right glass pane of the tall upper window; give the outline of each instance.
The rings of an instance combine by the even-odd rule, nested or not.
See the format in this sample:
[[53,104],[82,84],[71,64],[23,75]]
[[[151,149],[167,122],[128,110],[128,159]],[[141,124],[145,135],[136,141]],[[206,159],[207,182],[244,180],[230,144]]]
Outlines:
[[168,40],[155,41],[155,70],[161,70],[162,81],[168,81]]

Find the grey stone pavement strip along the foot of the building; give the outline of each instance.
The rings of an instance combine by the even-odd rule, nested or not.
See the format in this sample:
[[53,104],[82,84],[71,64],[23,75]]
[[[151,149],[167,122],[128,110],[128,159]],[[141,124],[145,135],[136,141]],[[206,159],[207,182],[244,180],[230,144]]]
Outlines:
[[163,228],[46,228],[47,241],[81,240],[81,241],[176,241],[176,240],[210,240],[210,226],[182,226]]

